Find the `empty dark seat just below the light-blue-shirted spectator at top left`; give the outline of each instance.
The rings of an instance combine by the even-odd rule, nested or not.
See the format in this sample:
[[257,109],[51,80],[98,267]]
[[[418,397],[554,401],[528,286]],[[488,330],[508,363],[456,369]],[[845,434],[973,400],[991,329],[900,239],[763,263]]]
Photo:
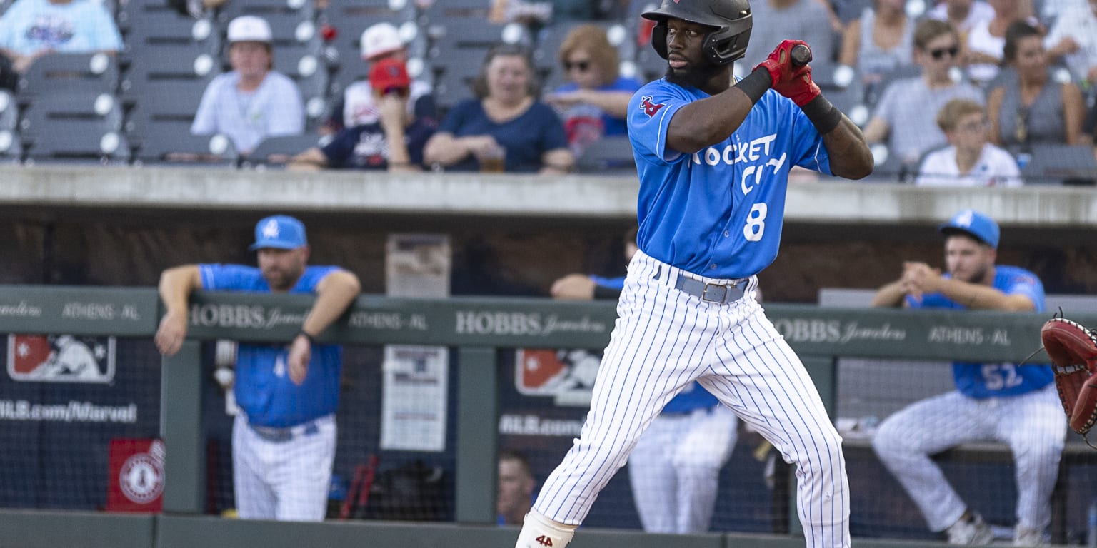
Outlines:
[[19,79],[19,102],[35,96],[73,93],[90,96],[114,93],[118,60],[106,54],[49,54],[39,57]]

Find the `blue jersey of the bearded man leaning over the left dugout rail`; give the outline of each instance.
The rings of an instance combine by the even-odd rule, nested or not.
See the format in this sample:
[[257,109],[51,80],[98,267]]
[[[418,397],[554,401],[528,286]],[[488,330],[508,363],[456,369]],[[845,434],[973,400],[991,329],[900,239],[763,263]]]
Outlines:
[[[338,266],[308,266],[289,293],[316,293],[316,285]],[[270,293],[259,269],[239,264],[200,264],[202,288]],[[286,427],[331,414],[339,406],[342,349],[313,344],[308,375],[301,386],[290,380],[289,344],[240,343],[236,352],[236,403],[259,426]]]

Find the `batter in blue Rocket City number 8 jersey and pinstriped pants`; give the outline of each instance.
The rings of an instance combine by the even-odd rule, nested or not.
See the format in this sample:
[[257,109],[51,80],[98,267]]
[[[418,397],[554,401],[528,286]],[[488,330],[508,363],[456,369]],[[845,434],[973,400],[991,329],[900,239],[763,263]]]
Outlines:
[[782,42],[732,83],[750,36],[746,0],[664,0],[643,16],[668,68],[629,104],[640,252],[580,437],[516,546],[566,546],[636,439],[694,380],[796,465],[806,545],[849,546],[841,438],[754,293],[777,256],[789,170],[860,179],[872,155],[810,67],[792,62],[802,42]]

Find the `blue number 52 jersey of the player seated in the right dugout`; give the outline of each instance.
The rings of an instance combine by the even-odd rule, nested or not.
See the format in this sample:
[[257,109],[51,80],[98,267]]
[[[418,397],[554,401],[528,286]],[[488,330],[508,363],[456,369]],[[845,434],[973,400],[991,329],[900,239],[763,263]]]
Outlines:
[[[945,274],[945,277],[950,277]],[[995,289],[1006,295],[1024,295],[1032,300],[1036,311],[1044,310],[1043,284],[1040,278],[1025,269],[1017,266],[996,266],[994,273]],[[966,307],[939,294],[923,295],[921,300],[906,297],[911,308],[948,308],[964,310]],[[1039,390],[1054,380],[1051,366],[1017,364],[981,364],[972,362],[954,362],[952,378],[957,390],[965,396],[982,399],[999,396],[1017,396]]]

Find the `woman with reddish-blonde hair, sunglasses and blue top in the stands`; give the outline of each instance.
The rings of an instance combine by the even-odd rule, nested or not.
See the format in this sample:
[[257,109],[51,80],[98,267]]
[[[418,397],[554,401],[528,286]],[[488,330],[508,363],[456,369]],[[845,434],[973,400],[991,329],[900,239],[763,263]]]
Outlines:
[[559,46],[559,62],[569,82],[544,98],[564,118],[575,156],[602,136],[627,135],[629,100],[642,85],[620,76],[618,50],[598,25],[578,25]]

